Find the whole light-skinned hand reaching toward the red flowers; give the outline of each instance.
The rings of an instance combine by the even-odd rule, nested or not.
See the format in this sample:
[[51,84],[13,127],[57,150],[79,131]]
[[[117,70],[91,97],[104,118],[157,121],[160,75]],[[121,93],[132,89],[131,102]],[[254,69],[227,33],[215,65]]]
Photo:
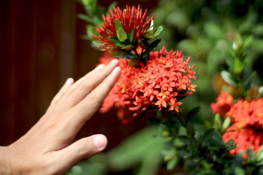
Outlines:
[[77,82],[69,78],[45,115],[28,133],[0,147],[0,174],[65,174],[75,163],[105,149],[101,134],[73,142],[120,77],[118,60],[101,64]]

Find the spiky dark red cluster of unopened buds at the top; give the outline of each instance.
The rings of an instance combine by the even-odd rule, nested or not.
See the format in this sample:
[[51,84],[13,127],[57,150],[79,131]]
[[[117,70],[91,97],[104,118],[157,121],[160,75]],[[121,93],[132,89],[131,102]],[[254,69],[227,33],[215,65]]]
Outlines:
[[118,19],[120,24],[123,25],[123,29],[126,33],[129,33],[131,30],[134,30],[134,39],[139,39],[143,34],[146,33],[147,29],[151,25],[152,19],[154,19],[154,15],[152,17],[147,16],[147,10],[143,12],[143,10],[138,6],[138,8],[132,6],[126,6],[125,10],[121,10],[119,7],[114,8],[114,10],[110,10],[110,14],[102,16],[105,21],[104,24],[100,28],[96,28],[98,32],[98,42],[101,43],[98,48],[100,50],[110,51],[116,48],[120,48],[116,46],[109,37],[117,37],[115,21]]

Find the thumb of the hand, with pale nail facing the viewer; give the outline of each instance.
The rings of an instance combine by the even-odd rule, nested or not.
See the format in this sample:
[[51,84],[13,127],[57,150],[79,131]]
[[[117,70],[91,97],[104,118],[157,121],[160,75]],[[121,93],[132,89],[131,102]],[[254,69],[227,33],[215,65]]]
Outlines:
[[[75,163],[78,163],[80,160],[89,158],[94,154],[105,149],[107,146],[107,138],[101,134],[93,135],[88,138],[82,138],[68,147],[54,152],[57,160],[60,162],[57,165],[57,169],[70,169]],[[61,174],[64,172],[57,172]]]

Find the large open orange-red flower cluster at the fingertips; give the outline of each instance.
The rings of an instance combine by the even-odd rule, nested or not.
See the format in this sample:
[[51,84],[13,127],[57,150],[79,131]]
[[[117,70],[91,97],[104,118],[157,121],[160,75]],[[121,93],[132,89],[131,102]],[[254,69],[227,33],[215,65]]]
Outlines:
[[[107,56],[109,57],[109,56]],[[103,59],[107,59],[102,57]],[[170,51],[163,47],[160,52],[149,53],[146,66],[134,68],[129,60],[120,59],[122,75],[111,90],[100,111],[106,112],[112,106],[118,108],[118,117],[138,116],[149,107],[179,112],[178,98],[192,94],[196,85],[194,66],[188,66],[190,57],[183,60],[182,52]]]

